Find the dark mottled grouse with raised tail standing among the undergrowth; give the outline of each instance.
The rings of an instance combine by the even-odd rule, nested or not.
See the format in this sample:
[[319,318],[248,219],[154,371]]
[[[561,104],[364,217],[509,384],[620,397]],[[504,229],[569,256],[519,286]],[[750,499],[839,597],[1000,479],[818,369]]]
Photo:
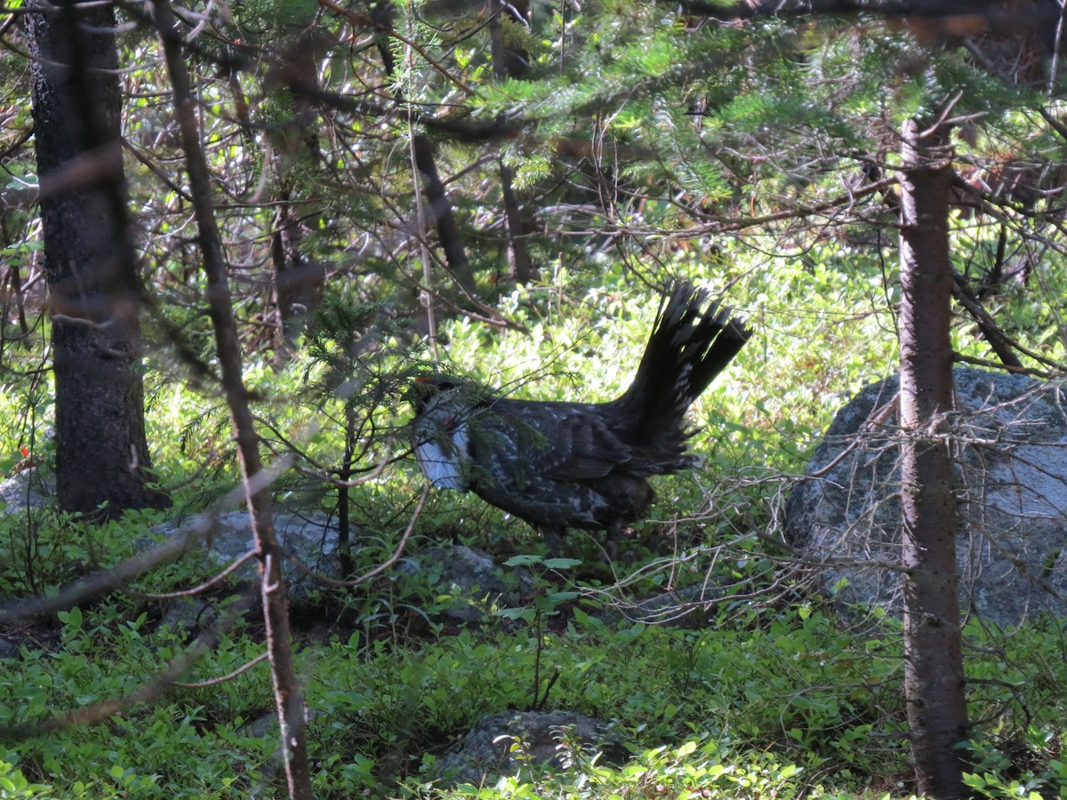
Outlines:
[[644,516],[648,478],[692,467],[685,414],[750,332],[683,284],[660,309],[630,388],[606,403],[494,397],[453,378],[412,389],[423,473],[525,519],[557,548],[567,528],[609,541]]

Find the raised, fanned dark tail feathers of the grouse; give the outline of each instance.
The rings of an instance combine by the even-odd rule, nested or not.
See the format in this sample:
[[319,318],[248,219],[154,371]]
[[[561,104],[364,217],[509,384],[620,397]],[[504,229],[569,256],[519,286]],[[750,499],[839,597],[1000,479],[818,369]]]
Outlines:
[[656,317],[620,404],[636,415],[639,430],[647,433],[680,429],[686,410],[751,335],[729,309],[708,303],[706,292],[679,284]]

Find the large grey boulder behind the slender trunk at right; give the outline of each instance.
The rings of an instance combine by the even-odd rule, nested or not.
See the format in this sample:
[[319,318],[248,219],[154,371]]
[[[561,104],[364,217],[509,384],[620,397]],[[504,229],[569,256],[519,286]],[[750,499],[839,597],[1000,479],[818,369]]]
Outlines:
[[[955,370],[958,565],[965,612],[1009,625],[1067,614],[1067,405],[1064,387]],[[845,603],[898,611],[901,560],[896,377],[842,409],[786,507],[792,543],[826,562]],[[847,581],[841,583],[842,579]]]

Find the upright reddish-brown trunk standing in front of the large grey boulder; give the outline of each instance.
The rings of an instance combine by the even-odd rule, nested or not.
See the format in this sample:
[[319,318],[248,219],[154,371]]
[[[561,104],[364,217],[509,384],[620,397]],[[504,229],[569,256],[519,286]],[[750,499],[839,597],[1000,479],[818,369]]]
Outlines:
[[946,416],[953,407],[949,131],[903,130],[901,423],[905,695],[920,794],[967,795],[968,734],[956,578],[956,494]]

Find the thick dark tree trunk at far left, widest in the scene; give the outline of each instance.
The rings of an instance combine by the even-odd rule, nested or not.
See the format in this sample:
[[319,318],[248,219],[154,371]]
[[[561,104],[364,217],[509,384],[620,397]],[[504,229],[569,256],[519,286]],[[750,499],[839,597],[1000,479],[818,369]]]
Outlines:
[[66,511],[169,505],[148,485],[140,287],[120,149],[109,4],[26,17],[55,377],[55,483]]

